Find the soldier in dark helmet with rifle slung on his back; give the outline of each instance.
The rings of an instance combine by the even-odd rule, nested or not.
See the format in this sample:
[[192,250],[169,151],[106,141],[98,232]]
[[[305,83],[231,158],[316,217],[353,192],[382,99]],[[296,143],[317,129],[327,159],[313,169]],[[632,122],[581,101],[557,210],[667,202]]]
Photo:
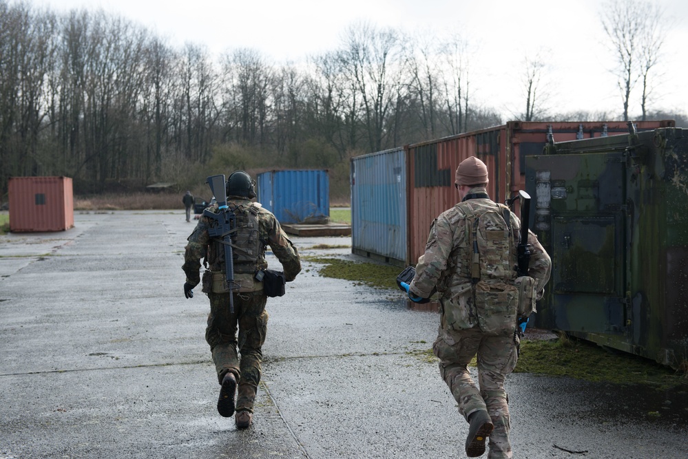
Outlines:
[[[236,171],[227,180],[227,204],[236,215],[237,231],[233,235],[234,280],[238,291],[231,293],[225,281],[225,250],[222,242],[211,239],[208,228],[211,219],[201,217],[188,238],[185,261],[184,291],[187,298],[200,282],[200,259],[207,268],[203,275],[202,291],[210,299],[210,314],[205,339],[210,345],[213,362],[221,385],[218,412],[229,417],[236,411],[235,421],[240,429],[253,421],[253,402],[260,382],[262,345],[267,331],[267,296],[263,282],[256,273],[267,268],[265,248],[270,246],[284,268],[286,281],[293,281],[301,270],[301,261],[280,222],[260,204],[251,202],[256,193],[253,180],[244,171]],[[209,209],[217,213],[218,204]],[[234,313],[230,311],[233,295]],[[238,328],[238,340],[237,340]],[[241,354],[238,359],[237,346]],[[238,397],[235,392],[238,385]]]

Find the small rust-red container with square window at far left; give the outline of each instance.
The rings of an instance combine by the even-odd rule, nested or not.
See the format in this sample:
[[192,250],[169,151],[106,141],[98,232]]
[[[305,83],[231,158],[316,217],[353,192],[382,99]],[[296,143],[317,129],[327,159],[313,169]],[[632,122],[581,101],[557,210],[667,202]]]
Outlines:
[[69,177],[10,177],[10,231],[65,231],[74,226]]

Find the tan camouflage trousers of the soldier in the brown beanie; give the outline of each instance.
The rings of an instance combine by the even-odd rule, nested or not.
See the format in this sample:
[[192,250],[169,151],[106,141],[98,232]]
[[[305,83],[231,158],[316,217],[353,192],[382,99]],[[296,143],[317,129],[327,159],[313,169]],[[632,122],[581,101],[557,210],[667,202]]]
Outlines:
[[[479,409],[486,409],[490,414],[494,431],[490,435],[488,458],[512,458],[504,381],[518,359],[514,336],[488,337],[477,327],[461,332],[440,332],[432,350],[439,358],[439,372],[459,403],[463,417],[468,420],[468,416]],[[476,354],[480,389],[468,371],[468,363]]]

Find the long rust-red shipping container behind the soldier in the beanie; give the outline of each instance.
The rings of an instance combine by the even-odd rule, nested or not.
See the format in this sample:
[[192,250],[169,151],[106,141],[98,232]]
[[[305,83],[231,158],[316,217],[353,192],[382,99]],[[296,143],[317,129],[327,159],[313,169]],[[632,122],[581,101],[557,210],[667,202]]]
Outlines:
[[[635,122],[638,131],[674,127],[673,120]],[[408,204],[408,264],[416,264],[425,252],[432,220],[457,203],[454,173],[459,162],[477,156],[488,167],[488,193],[505,202],[525,190],[525,157],[540,155],[548,133],[555,142],[628,134],[623,121],[607,122],[521,122],[480,129],[421,142],[406,149]],[[518,213],[518,212],[517,212]]]

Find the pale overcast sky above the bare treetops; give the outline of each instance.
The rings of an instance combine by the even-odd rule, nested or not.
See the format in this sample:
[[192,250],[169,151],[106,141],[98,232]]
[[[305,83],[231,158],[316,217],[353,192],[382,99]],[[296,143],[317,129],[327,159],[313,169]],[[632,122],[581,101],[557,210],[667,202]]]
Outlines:
[[[654,81],[650,109],[688,113],[688,1],[651,0],[671,29]],[[169,44],[206,45],[213,54],[251,47],[275,63],[335,50],[348,25],[369,21],[406,32],[456,31],[475,50],[470,63],[474,103],[505,121],[524,111],[523,58],[549,50],[548,98],[556,113],[607,111],[619,116],[621,96],[596,0],[28,0],[57,12],[73,8],[121,14]],[[336,6],[335,6],[336,5]],[[660,75],[661,74],[661,75]],[[640,114],[636,89],[631,114]],[[633,97],[633,95],[632,95]]]

